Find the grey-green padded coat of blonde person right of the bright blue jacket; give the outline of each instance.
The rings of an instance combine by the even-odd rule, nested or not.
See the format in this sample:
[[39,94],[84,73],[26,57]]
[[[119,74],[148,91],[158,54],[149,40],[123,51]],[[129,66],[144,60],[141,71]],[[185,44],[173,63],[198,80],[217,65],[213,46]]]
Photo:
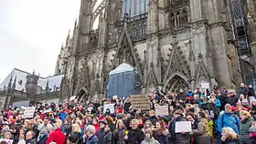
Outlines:
[[240,123],[240,142],[241,144],[247,143],[249,141],[250,128],[253,118],[248,118]]

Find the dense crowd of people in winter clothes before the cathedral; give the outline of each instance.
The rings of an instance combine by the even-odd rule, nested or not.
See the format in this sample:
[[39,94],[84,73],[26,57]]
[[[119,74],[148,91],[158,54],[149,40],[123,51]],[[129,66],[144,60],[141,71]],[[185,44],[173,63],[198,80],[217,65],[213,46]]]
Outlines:
[[[33,118],[10,107],[0,115],[1,139],[13,144],[256,144],[251,85],[241,84],[237,94],[217,86],[211,92],[180,89],[150,95],[148,103],[150,109],[133,109],[130,98],[37,103]],[[104,110],[106,104],[114,104],[114,111]],[[167,106],[168,115],[156,115],[157,106]],[[191,130],[176,132],[181,121],[191,122]]]

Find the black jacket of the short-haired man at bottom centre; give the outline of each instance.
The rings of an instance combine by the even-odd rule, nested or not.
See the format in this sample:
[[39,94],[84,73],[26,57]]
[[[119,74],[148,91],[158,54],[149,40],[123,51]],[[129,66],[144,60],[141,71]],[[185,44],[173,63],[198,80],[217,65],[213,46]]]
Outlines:
[[144,140],[144,132],[141,129],[132,129],[128,133],[128,144],[140,144]]

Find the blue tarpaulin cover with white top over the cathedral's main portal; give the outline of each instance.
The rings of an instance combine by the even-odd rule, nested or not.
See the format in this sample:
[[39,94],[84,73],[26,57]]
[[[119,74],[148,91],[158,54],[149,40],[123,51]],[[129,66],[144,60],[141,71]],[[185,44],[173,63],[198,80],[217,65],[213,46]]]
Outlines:
[[142,82],[136,70],[130,65],[123,63],[110,72],[107,85],[107,96],[118,98],[140,95],[142,93]]

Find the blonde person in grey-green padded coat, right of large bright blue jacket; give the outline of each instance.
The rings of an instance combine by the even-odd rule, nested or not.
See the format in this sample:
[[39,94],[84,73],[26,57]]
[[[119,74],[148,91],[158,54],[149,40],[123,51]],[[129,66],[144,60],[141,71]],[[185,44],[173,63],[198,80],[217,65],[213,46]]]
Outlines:
[[240,143],[246,144],[249,141],[250,128],[253,122],[251,114],[248,111],[240,111]]

